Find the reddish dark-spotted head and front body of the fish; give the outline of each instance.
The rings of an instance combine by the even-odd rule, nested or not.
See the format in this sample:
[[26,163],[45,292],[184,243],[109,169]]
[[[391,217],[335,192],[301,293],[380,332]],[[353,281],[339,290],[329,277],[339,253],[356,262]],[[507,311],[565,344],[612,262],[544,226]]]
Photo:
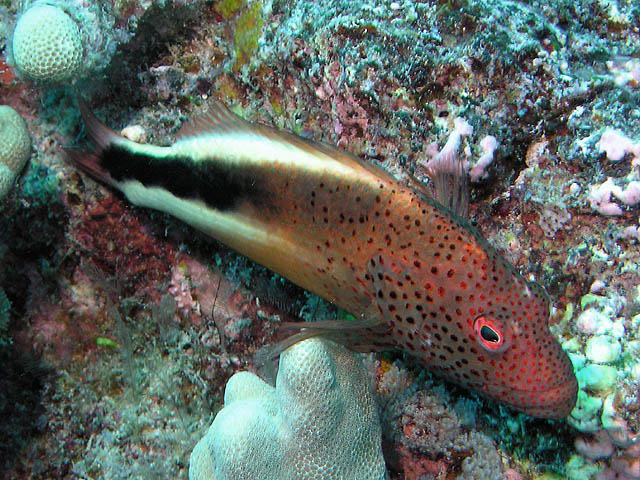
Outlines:
[[[387,338],[362,334],[361,343],[393,343],[521,411],[569,413],[576,382],[547,328],[546,297],[470,226],[393,181],[376,188],[329,174],[290,180],[277,197],[297,199],[295,207],[283,200],[273,221],[299,225],[291,235],[308,238],[314,267],[303,286],[357,317],[371,315],[375,299]],[[482,346],[479,315],[508,348]]]

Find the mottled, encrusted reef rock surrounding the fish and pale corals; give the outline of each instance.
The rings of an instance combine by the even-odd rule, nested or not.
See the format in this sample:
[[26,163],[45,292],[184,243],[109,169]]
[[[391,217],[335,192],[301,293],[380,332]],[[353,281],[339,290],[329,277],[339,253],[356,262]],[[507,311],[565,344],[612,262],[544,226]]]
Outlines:
[[[474,127],[471,164],[495,136],[471,217],[550,294],[579,405],[535,420],[369,355],[390,476],[640,478],[640,208],[601,195],[608,177],[638,181],[636,0],[90,3],[112,49],[76,86],[149,143],[209,98],[401,178],[424,174],[456,117]],[[19,12],[0,0],[0,51]],[[335,312],[65,164],[82,141],[69,86],[22,81],[0,56],[0,104],[34,142],[0,205],[0,478],[186,478],[226,380],[280,321]],[[621,159],[609,129],[630,139]]]

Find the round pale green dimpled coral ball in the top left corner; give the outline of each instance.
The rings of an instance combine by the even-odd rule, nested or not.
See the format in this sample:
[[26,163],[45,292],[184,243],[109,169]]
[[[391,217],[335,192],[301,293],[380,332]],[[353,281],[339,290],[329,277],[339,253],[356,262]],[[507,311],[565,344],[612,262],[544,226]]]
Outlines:
[[62,82],[74,77],[83,57],[76,23],[53,5],[34,5],[20,17],[13,33],[18,71],[38,81]]

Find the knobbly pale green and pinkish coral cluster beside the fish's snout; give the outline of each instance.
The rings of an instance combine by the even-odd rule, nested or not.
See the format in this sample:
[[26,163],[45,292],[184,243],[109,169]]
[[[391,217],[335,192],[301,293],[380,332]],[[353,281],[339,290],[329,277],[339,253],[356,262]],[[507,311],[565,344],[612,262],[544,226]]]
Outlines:
[[[635,407],[640,382],[640,318],[636,315],[629,321],[622,317],[625,304],[625,298],[613,292],[583,296],[582,312],[575,321],[577,336],[565,342],[580,385],[578,404],[568,421],[587,434],[576,439],[576,450],[583,458],[573,459],[571,478],[582,478],[585,469],[597,471],[593,461],[633,458],[634,444],[640,440]],[[616,460],[611,471],[626,474],[633,468],[633,461],[629,463]]]

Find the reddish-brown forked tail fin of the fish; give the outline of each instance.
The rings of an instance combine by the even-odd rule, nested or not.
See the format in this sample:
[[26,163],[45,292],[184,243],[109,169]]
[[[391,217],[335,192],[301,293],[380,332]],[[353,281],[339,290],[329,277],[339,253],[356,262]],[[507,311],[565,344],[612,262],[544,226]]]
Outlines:
[[80,114],[82,115],[82,120],[84,122],[85,130],[87,131],[87,137],[90,146],[92,147],[92,151],[65,148],[63,149],[65,160],[85,172],[87,175],[106,183],[107,185],[117,187],[116,180],[105,168],[102,167],[100,157],[102,152],[110,145],[127,142],[127,140],[98,120],[98,117],[93,114],[87,103],[79,94],[77,99]]

